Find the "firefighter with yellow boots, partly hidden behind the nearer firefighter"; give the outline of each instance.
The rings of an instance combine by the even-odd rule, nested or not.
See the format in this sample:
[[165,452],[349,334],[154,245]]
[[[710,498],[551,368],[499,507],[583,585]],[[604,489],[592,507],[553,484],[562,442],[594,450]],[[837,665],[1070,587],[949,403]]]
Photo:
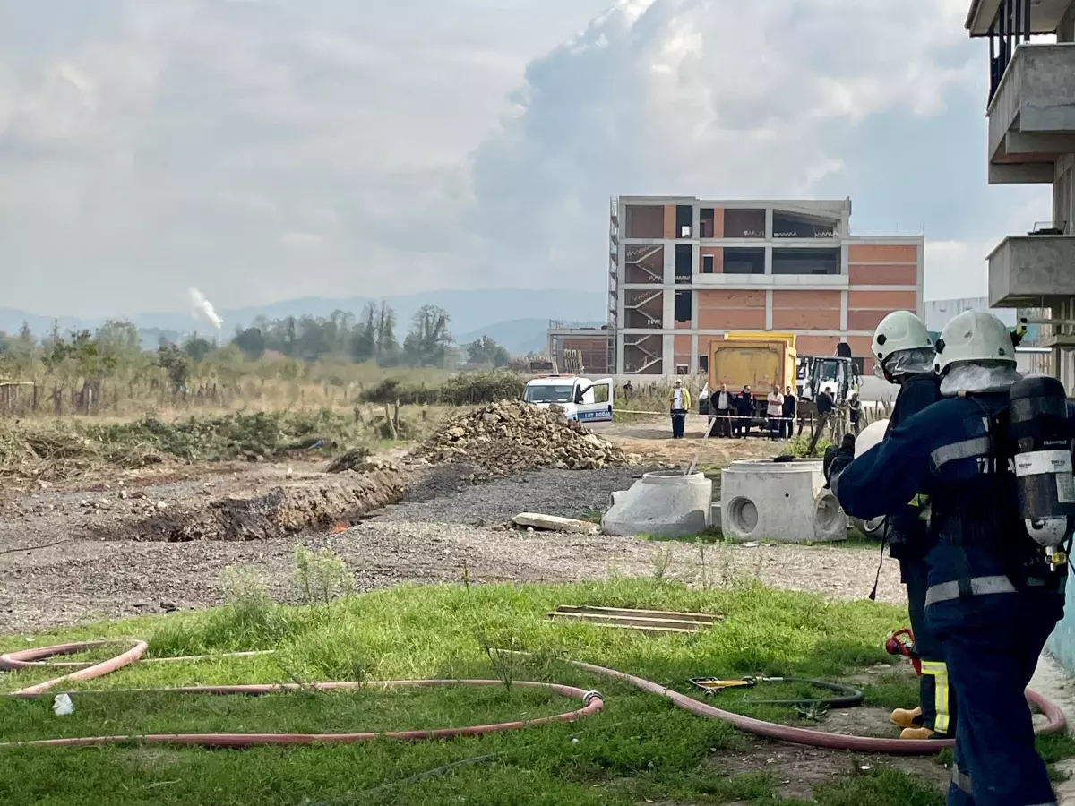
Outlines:
[[[900,391],[888,420],[888,432],[927,406],[941,400],[940,380],[933,371],[935,352],[930,332],[909,311],[894,311],[877,326],[872,351],[874,374]],[[886,432],[886,435],[887,433]],[[926,549],[929,504],[916,494],[889,513],[886,539],[889,556],[900,563],[900,581],[907,588],[907,610],[915,649],[921,661],[918,707],[898,708],[892,722],[903,729],[900,738],[948,738],[955,735],[955,707],[948,687],[941,642],[926,624]]]

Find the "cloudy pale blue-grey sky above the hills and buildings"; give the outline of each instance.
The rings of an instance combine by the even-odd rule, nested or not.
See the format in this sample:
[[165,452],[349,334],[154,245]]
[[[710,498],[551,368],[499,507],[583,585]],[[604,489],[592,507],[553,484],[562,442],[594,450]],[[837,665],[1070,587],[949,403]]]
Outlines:
[[0,0],[0,307],[600,290],[621,193],[850,196],[984,296],[1050,203],[968,2]]

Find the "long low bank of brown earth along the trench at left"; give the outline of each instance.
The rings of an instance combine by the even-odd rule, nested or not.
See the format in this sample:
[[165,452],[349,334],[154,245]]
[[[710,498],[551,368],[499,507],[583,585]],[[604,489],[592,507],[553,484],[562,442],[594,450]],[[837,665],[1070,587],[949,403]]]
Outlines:
[[150,506],[118,524],[102,524],[91,536],[168,543],[269,539],[357,522],[402,496],[402,477],[383,463],[369,472],[282,485],[260,495],[219,498],[200,506]]

